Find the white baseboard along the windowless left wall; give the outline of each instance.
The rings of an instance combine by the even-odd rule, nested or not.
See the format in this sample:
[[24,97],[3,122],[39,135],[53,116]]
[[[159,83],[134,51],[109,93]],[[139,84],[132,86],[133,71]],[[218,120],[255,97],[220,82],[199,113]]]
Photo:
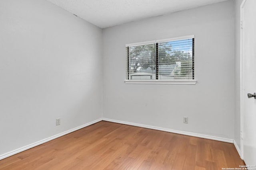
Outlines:
[[95,120],[95,121],[91,121],[91,122],[86,123],[86,124],[84,124],[84,125],[75,127],[74,129],[70,129],[70,130],[68,130],[68,131],[59,133],[59,134],[54,135],[54,136],[52,136],[52,137],[48,137],[48,138],[46,138],[46,139],[43,139],[43,140],[41,140],[41,141],[32,143],[32,144],[27,145],[27,146],[25,146],[25,147],[21,147],[21,148],[19,148],[19,149],[12,150],[12,151],[10,151],[10,152],[7,152],[7,153],[5,153],[5,154],[0,155],[0,160],[1,160],[1,159],[4,159],[4,158],[7,158],[7,157],[9,157],[9,156],[12,156],[12,155],[14,155],[14,154],[17,154],[17,153],[19,153],[19,152],[22,152],[22,151],[24,151],[24,150],[27,150],[27,149],[36,147],[36,146],[38,146],[38,145],[41,145],[41,144],[43,144],[43,143],[46,143],[46,142],[51,141],[51,140],[53,140],[53,139],[56,139],[56,138],[58,138],[58,137],[64,136],[64,135],[66,135],[66,134],[68,134],[68,133],[77,131],[77,130],[79,130],[79,129],[82,129],[82,128],[86,127],[86,126],[89,126],[89,125],[92,125],[92,124],[94,124],[94,123],[97,123],[97,122],[99,122],[99,121],[102,121],[102,119],[97,119],[97,120]]

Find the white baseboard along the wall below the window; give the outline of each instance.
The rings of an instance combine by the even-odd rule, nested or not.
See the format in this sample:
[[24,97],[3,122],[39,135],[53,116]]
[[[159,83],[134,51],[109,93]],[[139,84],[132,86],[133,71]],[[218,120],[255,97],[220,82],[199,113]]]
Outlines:
[[215,140],[215,141],[222,141],[222,142],[228,142],[228,143],[233,143],[234,142],[233,139],[226,139],[226,138],[222,138],[222,137],[214,137],[214,136],[210,136],[210,135],[202,135],[202,134],[198,134],[198,133],[178,131],[178,130],[166,129],[166,128],[162,128],[162,127],[155,127],[155,126],[149,126],[149,125],[142,125],[142,124],[138,124],[138,123],[130,123],[130,122],[126,122],[126,121],[118,121],[118,120],[107,119],[107,118],[102,118],[102,120],[103,121],[110,121],[110,122],[114,122],[114,123],[120,123],[120,124],[124,124],[124,125],[132,125],[132,126],[144,127],[144,128],[148,128],[148,129],[155,129],[155,130],[159,130],[159,131],[177,133],[177,134],[181,134],[181,135],[200,137],[200,138],[204,138],[204,139],[212,139],[212,140]]

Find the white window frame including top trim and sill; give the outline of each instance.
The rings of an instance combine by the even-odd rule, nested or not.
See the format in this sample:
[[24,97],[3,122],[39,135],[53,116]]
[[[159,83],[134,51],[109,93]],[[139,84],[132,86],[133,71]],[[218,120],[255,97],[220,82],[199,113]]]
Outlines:
[[[193,79],[176,79],[176,80],[158,80],[158,64],[156,64],[156,80],[129,80],[127,79],[127,76],[129,77],[129,47],[130,46],[137,46],[137,45],[148,45],[155,43],[156,44],[156,62],[158,62],[158,43],[168,42],[168,41],[176,41],[176,40],[183,40],[183,39],[193,39],[192,43],[192,76]],[[140,43],[130,43],[126,44],[126,48],[128,47],[128,50],[126,51],[126,80],[124,82],[126,84],[196,84],[197,80],[194,78],[194,35],[188,35],[188,36],[182,36],[182,37],[174,37],[169,39],[159,39],[154,41],[145,41]]]

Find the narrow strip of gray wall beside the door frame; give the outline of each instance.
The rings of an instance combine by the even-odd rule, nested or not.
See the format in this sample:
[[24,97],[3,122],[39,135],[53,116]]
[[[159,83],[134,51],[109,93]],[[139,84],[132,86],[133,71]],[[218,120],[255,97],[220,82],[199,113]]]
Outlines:
[[235,133],[234,140],[240,145],[240,5],[242,0],[235,0]]

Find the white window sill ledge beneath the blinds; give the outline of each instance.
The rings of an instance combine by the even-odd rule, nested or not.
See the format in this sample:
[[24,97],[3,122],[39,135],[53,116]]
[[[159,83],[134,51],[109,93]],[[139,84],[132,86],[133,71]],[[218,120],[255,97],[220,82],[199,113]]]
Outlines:
[[196,84],[196,80],[124,80],[126,84]]

